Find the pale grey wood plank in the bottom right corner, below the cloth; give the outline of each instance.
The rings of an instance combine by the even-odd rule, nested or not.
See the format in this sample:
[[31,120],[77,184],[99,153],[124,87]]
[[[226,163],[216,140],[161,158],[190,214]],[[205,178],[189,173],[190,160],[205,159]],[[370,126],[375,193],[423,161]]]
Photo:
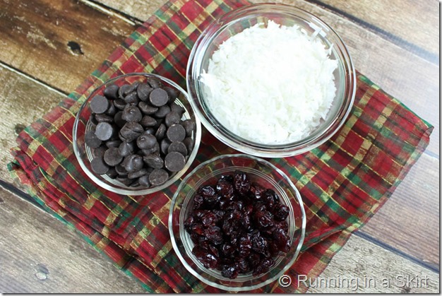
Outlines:
[[353,235],[317,281],[301,285],[312,293],[405,294],[439,293],[439,282],[438,273]]

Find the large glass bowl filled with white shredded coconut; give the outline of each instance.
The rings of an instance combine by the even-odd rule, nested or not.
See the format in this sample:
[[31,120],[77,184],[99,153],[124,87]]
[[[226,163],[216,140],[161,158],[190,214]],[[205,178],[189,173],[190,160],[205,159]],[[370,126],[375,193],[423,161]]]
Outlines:
[[202,32],[187,66],[203,125],[243,153],[279,158],[327,141],[354,101],[347,48],[326,23],[283,4],[226,13]]

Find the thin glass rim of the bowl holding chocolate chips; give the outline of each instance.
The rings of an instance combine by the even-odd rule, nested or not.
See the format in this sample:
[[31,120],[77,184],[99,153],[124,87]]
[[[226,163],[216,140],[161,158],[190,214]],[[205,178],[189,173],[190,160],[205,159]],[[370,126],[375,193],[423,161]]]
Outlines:
[[[80,122],[80,113],[81,111],[88,105],[88,102],[90,101],[90,99],[92,98],[92,95],[95,94],[95,92],[97,92],[97,90],[99,90],[100,88],[102,88],[104,85],[110,84],[110,83],[114,83],[114,81],[117,81],[121,78],[130,78],[130,77],[136,77],[136,76],[143,76],[146,78],[158,78],[161,81],[164,81],[166,83],[169,83],[169,85],[172,85],[174,88],[177,88],[177,90],[179,90],[180,93],[182,93],[184,95],[184,97],[186,98],[186,100],[189,102],[189,105],[191,106],[191,110],[194,113],[194,117],[195,117],[195,123],[196,123],[196,128],[195,128],[195,141],[194,141],[194,145],[193,145],[193,150],[191,152],[191,154],[189,155],[188,160],[186,161],[186,165],[184,166],[184,168],[182,170],[180,170],[179,172],[177,172],[176,174],[174,174],[172,176],[172,178],[169,178],[167,180],[167,182],[165,182],[164,184],[158,186],[158,187],[152,187],[152,188],[147,188],[147,189],[137,189],[136,187],[133,187],[133,189],[130,189],[130,187],[127,188],[123,188],[123,187],[114,187],[110,184],[107,184],[105,182],[103,182],[99,177],[96,176],[96,174],[94,172],[91,172],[88,167],[85,165],[85,162],[83,160],[83,158],[80,155],[80,148],[78,147],[78,136],[77,136],[77,131],[78,131],[78,123]],[[119,76],[115,76],[113,78],[109,78],[107,81],[104,81],[103,83],[101,83],[100,85],[98,85],[96,88],[94,88],[89,94],[88,97],[86,97],[85,101],[83,102],[83,104],[81,105],[80,109],[78,109],[78,112],[76,113],[76,118],[75,121],[73,122],[73,127],[72,127],[72,143],[73,143],[73,152],[76,155],[76,159],[78,160],[78,163],[80,164],[80,167],[82,168],[83,172],[85,172],[85,174],[88,175],[88,177],[90,177],[90,179],[92,179],[93,182],[95,182],[95,184],[98,184],[100,187],[107,189],[109,191],[112,191],[114,193],[117,194],[124,194],[124,195],[132,195],[132,196],[138,196],[138,195],[148,195],[148,194],[153,194],[157,191],[160,191],[162,189],[165,189],[167,187],[169,187],[170,185],[174,184],[175,182],[177,182],[179,180],[179,178],[181,178],[181,176],[187,172],[189,170],[189,167],[191,167],[191,164],[193,163],[193,161],[196,158],[196,155],[198,153],[198,148],[200,146],[201,143],[201,121],[198,118],[198,116],[196,115],[195,109],[193,109],[193,106],[190,104],[190,98],[189,98],[189,94],[186,92],[186,90],[184,90],[183,88],[181,88],[181,86],[179,86],[177,83],[175,83],[174,81],[170,80],[169,78],[166,78],[164,76],[160,76],[158,74],[155,73],[145,73],[145,72],[133,72],[133,73],[126,73],[123,75],[119,75]]]

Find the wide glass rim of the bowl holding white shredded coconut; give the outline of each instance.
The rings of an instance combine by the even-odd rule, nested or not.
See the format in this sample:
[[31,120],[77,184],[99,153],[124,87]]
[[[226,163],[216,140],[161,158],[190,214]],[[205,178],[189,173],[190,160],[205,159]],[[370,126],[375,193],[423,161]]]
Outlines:
[[[340,106],[335,114],[335,117],[330,121],[330,123],[322,129],[321,133],[313,133],[307,138],[300,141],[295,141],[292,143],[282,144],[282,145],[265,145],[260,143],[253,143],[246,139],[240,138],[237,135],[229,134],[228,132],[219,129],[217,126],[220,124],[214,124],[212,119],[208,119],[208,114],[205,108],[202,107],[203,99],[200,97],[198,91],[196,90],[196,85],[199,83],[200,73],[197,71],[201,70],[201,58],[205,53],[205,47],[210,42],[213,34],[224,30],[229,24],[234,23],[235,17],[238,20],[243,20],[249,14],[258,13],[258,10],[264,10],[265,12],[271,13],[284,13],[285,15],[291,15],[294,18],[309,18],[310,23],[316,25],[327,32],[328,35],[333,38],[333,47],[342,54],[343,59],[340,58],[338,54],[338,61],[342,67],[342,72],[345,77],[345,85],[343,88],[343,99],[340,102]],[[219,28],[217,28],[219,27]],[[215,28],[217,28],[215,30]],[[330,37],[328,37],[330,39]],[[201,35],[193,45],[191,49],[191,54],[189,56],[189,61],[186,68],[186,86],[189,91],[189,96],[191,97],[191,105],[195,109],[196,114],[200,117],[203,126],[205,126],[210,134],[213,134],[218,140],[227,144],[242,153],[247,153],[250,155],[255,155],[263,158],[284,158],[294,155],[299,155],[305,153],[317,146],[325,143],[331,138],[341,127],[345,124],[345,119],[350,115],[352,106],[354,104],[354,97],[356,94],[356,71],[354,69],[354,64],[352,62],[352,57],[348,51],[345,43],[343,42],[340,35],[338,35],[333,28],[325,23],[321,18],[314,16],[312,13],[305,11],[304,9],[297,8],[295,6],[287,4],[274,4],[274,3],[263,3],[263,4],[250,4],[246,6],[241,6],[232,11],[229,11],[219,18],[213,20],[208,27],[201,32]]]

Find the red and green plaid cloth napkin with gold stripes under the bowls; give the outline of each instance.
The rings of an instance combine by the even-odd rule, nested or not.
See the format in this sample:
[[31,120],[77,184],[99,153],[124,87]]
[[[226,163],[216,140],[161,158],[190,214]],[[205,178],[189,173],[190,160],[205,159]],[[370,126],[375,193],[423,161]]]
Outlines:
[[[220,292],[193,277],[172,249],[167,229],[177,183],[151,196],[121,196],[97,188],[73,154],[72,126],[88,93],[113,76],[153,72],[185,87],[186,62],[200,32],[246,1],[173,0],[139,27],[78,88],[17,138],[11,174],[49,213],[78,230],[149,292]],[[357,74],[352,114],[330,141],[309,153],[270,160],[301,192],[307,233],[299,259],[256,292],[305,292],[297,275],[316,278],[334,254],[386,202],[429,143],[432,127],[365,76]],[[193,167],[235,153],[203,130]],[[192,168],[191,168],[192,169]]]

